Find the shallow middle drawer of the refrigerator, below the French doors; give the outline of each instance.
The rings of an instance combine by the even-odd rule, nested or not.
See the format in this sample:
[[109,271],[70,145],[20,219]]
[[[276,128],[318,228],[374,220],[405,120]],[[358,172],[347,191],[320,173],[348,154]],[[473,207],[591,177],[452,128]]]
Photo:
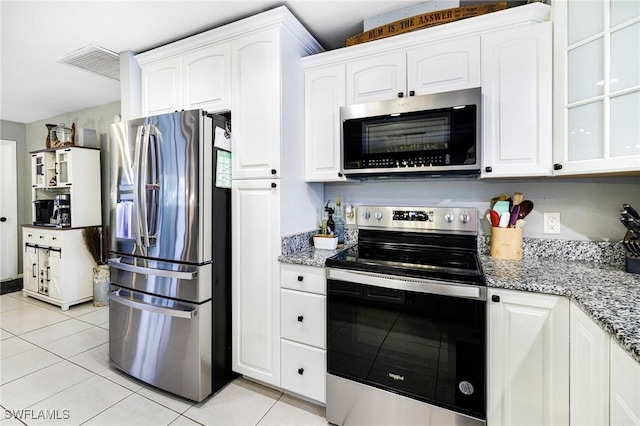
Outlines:
[[210,263],[197,266],[121,256],[109,259],[109,265],[111,283],[118,287],[195,303],[212,297]]

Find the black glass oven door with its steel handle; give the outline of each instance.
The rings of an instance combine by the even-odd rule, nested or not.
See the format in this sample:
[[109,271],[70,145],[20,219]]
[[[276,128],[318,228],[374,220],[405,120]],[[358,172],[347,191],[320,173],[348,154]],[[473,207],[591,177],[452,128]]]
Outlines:
[[485,419],[486,288],[420,281],[329,269],[328,373]]

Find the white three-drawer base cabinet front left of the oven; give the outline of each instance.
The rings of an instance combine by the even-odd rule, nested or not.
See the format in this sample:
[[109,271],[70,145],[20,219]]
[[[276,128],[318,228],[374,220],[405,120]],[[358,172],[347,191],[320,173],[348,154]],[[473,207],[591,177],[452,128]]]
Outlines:
[[325,269],[283,264],[280,270],[281,387],[325,403]]

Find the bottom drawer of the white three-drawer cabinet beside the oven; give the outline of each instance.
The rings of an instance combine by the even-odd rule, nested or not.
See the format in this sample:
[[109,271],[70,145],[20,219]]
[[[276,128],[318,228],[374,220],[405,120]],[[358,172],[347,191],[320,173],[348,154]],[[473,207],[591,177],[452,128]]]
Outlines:
[[324,403],[326,351],[287,340],[282,340],[281,350],[280,383],[282,387]]

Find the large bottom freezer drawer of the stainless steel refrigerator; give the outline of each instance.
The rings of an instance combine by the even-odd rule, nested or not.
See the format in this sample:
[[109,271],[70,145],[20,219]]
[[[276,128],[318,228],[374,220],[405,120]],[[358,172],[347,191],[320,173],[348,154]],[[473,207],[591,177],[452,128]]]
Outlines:
[[194,401],[212,393],[211,301],[190,304],[112,286],[109,358],[127,374]]

